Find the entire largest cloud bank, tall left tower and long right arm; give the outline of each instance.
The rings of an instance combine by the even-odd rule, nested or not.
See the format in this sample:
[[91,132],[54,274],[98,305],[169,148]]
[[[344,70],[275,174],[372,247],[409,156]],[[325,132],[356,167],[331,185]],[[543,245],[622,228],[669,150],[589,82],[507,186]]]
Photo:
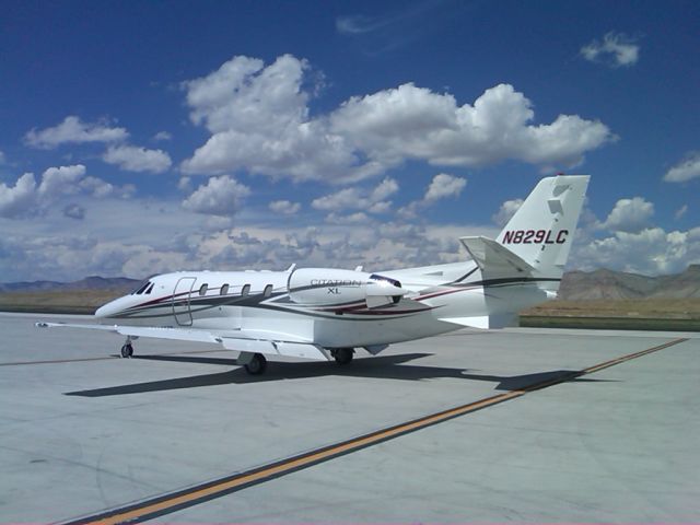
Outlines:
[[182,170],[347,183],[407,160],[572,166],[615,140],[607,126],[578,115],[533,124],[532,103],[509,84],[487,90],[474,105],[458,105],[453,95],[409,83],[352,97],[314,117],[310,70],[290,55],[267,67],[234,57],[209,75],[184,82],[191,121],[212,135]]

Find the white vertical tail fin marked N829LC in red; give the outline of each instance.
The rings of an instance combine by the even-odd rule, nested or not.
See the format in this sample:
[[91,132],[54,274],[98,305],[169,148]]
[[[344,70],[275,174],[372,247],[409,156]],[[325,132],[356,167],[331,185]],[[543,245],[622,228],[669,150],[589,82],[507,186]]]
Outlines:
[[542,178],[499,234],[498,243],[539,273],[561,275],[583,207],[588,175]]

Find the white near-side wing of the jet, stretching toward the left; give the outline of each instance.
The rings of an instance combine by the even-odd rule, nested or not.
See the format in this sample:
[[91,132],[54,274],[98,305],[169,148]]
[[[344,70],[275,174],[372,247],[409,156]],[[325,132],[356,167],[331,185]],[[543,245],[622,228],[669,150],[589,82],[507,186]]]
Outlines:
[[122,336],[152,337],[178,341],[209,342],[221,345],[226,350],[238,352],[287,355],[290,358],[319,359],[330,361],[330,353],[310,340],[292,334],[267,330],[203,330],[191,328],[170,328],[124,325],[82,325],[71,323],[37,323],[39,328],[84,328],[110,331]]

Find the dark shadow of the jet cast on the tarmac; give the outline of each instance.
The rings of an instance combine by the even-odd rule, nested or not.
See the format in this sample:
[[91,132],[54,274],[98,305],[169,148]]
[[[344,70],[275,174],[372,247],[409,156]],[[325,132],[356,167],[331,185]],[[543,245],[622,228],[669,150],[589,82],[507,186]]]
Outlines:
[[172,380],[151,381],[130,385],[110,386],[88,390],[67,392],[67,396],[104,397],[121,396],[126,394],[142,394],[147,392],[176,390],[182,388],[197,388],[201,386],[261,383],[268,381],[300,380],[320,376],[375,377],[383,380],[421,381],[454,377],[469,381],[488,381],[497,383],[497,390],[517,390],[549,382],[599,382],[604,380],[581,378],[582,372],[575,370],[555,370],[534,374],[504,376],[468,373],[465,369],[444,366],[405,365],[432,355],[431,353],[406,353],[400,355],[382,355],[378,358],[362,358],[353,360],[348,366],[339,366],[332,362],[301,362],[301,363],[270,363],[264,375],[249,375],[235,359],[201,358],[189,355],[138,355],[132,359],[148,361],[171,361],[197,364],[221,364],[235,366],[234,370],[214,374],[192,375]]

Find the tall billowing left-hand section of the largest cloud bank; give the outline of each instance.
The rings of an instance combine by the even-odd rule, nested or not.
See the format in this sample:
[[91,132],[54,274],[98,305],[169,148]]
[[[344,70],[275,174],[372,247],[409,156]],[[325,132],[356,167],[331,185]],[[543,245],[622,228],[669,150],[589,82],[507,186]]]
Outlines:
[[304,90],[308,69],[305,60],[290,55],[268,67],[258,59],[234,57],[213,73],[185,82],[191,121],[206,126],[212,136],[183,163],[183,172],[244,168],[296,180],[378,173],[372,163],[360,165],[323,120],[310,118],[312,95]]

